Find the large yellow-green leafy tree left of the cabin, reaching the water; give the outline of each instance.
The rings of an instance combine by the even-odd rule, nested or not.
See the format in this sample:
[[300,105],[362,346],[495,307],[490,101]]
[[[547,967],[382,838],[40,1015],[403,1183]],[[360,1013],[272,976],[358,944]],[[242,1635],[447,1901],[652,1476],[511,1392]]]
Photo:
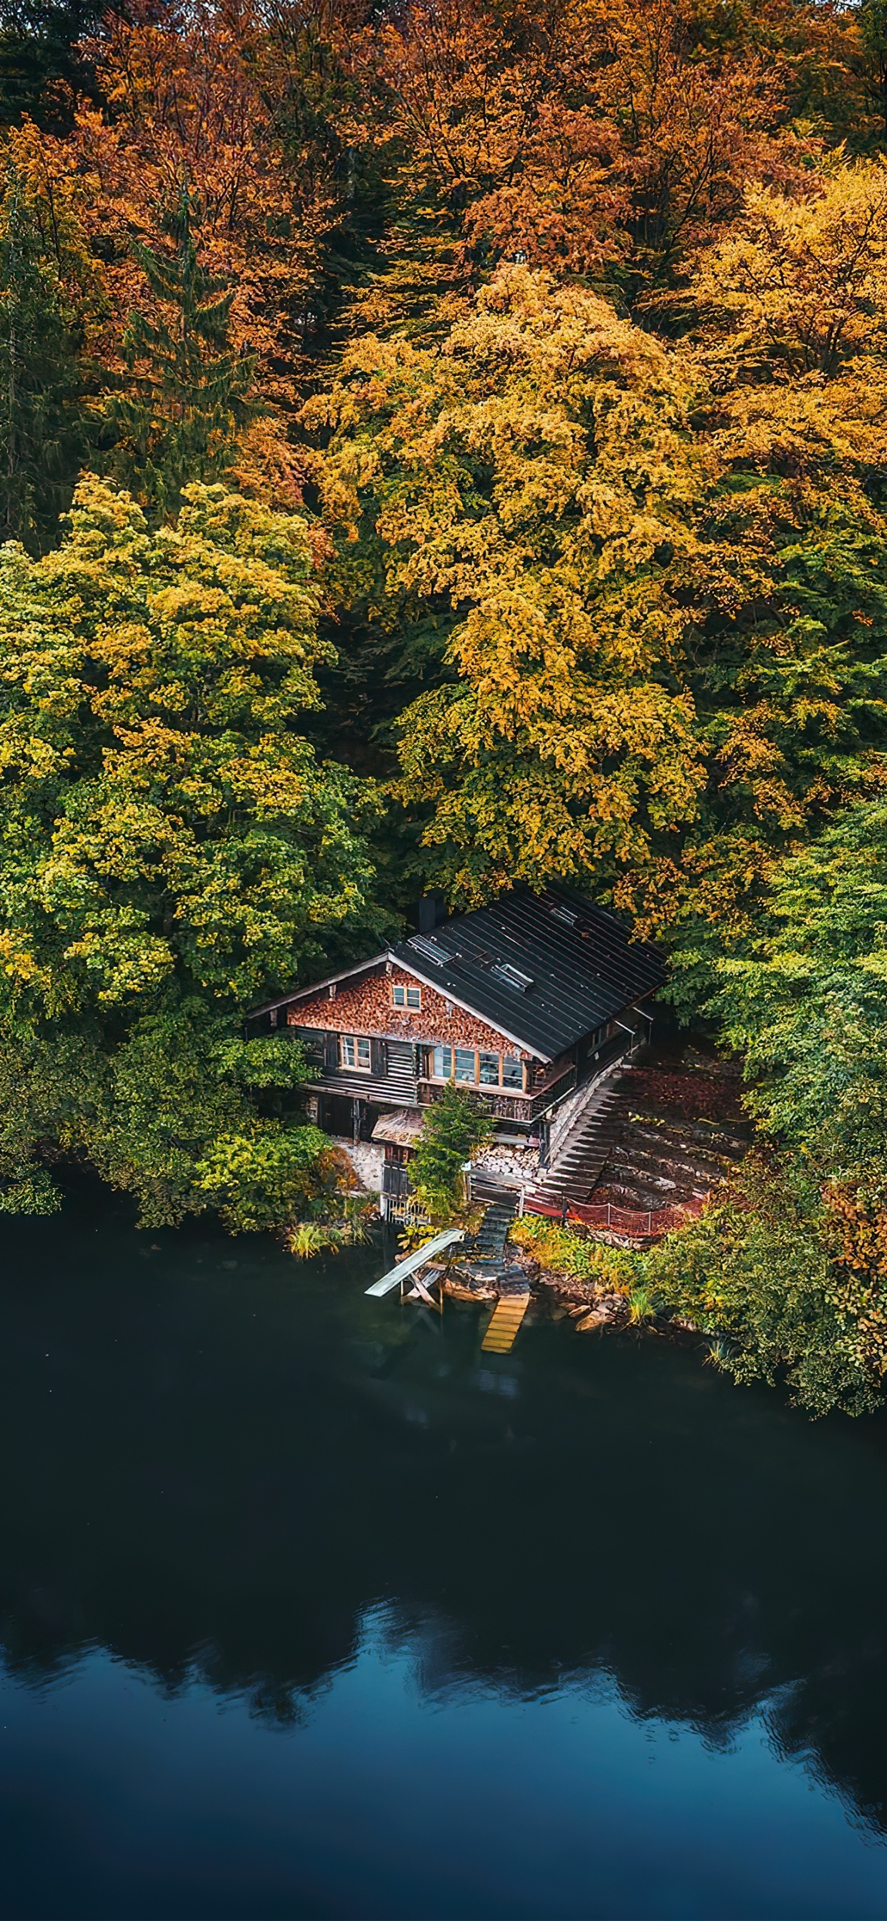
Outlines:
[[242,1012],[372,937],[367,790],[319,765],[307,526],[225,488],[150,532],[86,478],[40,561],[0,551],[0,1176],[86,1156],[150,1222],[301,1218],[305,1068]]

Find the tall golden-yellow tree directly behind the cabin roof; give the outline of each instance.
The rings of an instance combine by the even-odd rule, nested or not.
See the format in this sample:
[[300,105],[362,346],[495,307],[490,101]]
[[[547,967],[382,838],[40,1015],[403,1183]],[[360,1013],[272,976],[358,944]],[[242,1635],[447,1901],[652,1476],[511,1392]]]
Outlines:
[[[344,592],[434,603],[455,680],[403,717],[401,795],[478,899],[509,878],[645,861],[705,778],[680,684],[705,461],[680,369],[578,288],[503,269],[445,348],[367,340],[305,419],[330,515],[372,540]],[[376,584],[367,569],[378,563]]]

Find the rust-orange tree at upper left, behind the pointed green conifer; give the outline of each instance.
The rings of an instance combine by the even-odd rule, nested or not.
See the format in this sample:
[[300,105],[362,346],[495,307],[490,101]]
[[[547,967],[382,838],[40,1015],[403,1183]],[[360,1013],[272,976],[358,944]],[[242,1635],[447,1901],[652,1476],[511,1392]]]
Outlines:
[[186,190],[202,267],[232,292],[230,348],[255,357],[265,413],[284,434],[301,398],[323,240],[338,217],[323,127],[311,134],[284,111],[298,71],[275,58],[263,17],[209,4],[134,4],[127,19],[106,17],[88,54],[108,106],[83,106],[65,150],[104,257],[106,365],[121,371],[123,332],[140,305],[138,250],[163,252]]

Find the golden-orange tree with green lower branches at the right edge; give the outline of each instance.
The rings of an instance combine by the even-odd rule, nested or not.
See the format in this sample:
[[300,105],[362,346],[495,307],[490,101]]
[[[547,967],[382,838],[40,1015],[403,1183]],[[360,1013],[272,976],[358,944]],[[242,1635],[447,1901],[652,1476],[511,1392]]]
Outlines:
[[774,859],[883,790],[885,219],[881,161],[812,177],[801,200],[755,186],[697,273],[683,359],[720,484],[693,645],[710,776],[682,857],[685,1005]]

